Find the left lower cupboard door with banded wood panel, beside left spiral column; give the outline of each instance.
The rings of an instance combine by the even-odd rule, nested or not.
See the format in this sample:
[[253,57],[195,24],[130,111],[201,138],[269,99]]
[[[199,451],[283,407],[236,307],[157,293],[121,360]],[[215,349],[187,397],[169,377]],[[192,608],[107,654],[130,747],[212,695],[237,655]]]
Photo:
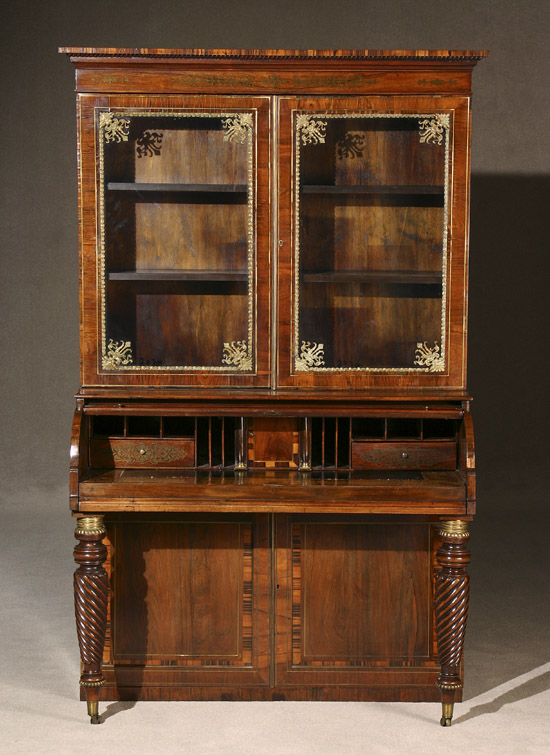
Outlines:
[[268,522],[253,514],[108,522],[108,686],[123,698],[193,687],[223,697],[269,683]]

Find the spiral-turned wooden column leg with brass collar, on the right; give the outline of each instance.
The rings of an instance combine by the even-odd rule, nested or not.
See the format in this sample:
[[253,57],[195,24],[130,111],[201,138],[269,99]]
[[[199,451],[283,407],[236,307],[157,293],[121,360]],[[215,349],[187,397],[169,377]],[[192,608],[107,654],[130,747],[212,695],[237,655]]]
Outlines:
[[441,726],[450,726],[457,690],[462,688],[460,661],[468,619],[470,563],[468,523],[452,520],[441,522],[442,543],[437,550],[439,571],[435,581],[435,626],[441,672],[437,686],[441,689],[443,706]]

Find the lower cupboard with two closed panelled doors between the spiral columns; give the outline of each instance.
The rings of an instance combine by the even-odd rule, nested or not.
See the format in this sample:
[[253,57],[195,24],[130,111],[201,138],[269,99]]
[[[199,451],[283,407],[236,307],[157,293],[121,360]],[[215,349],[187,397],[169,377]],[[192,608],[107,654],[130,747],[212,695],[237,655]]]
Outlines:
[[429,521],[107,521],[104,700],[439,700]]

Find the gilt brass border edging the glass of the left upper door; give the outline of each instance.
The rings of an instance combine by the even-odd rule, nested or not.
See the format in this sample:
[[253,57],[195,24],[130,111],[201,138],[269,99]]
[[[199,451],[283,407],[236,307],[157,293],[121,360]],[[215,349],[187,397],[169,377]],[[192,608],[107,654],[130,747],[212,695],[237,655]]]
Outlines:
[[[254,261],[256,257],[256,205],[257,205],[257,191],[255,181],[255,154],[256,154],[256,141],[257,141],[257,112],[256,109],[252,109],[251,112],[235,113],[227,112],[225,110],[219,111],[197,111],[197,110],[184,110],[183,108],[175,110],[167,110],[165,108],[158,110],[135,110],[128,108],[120,108],[120,110],[105,110],[102,108],[95,108],[95,121],[97,124],[98,132],[98,145],[99,145],[99,187],[97,194],[99,195],[99,249],[97,251],[98,258],[98,270],[99,270],[99,289],[100,289],[100,322],[101,322],[101,356],[102,356],[102,369],[117,370],[117,371],[155,371],[155,372],[235,372],[235,366],[233,364],[222,363],[221,365],[137,365],[132,361],[124,362],[120,361],[115,366],[105,367],[103,361],[108,359],[107,364],[111,365],[109,360],[109,348],[112,339],[109,340],[109,346],[107,345],[106,335],[106,273],[105,273],[105,143],[110,141],[128,141],[128,133],[123,134],[122,128],[129,128],[130,118],[218,118],[222,120],[222,126],[227,128],[227,133],[224,139],[228,137],[228,134],[233,133],[240,134],[234,138],[228,137],[230,141],[238,141],[238,143],[246,144],[247,149],[247,179],[248,179],[248,216],[247,216],[247,240],[248,240],[248,327],[247,327],[247,343],[252,347],[254,343],[254,311],[256,305],[256,290],[255,290],[255,270]],[[232,126],[225,126],[224,121],[230,121]],[[235,126],[235,123],[238,125]],[[114,125],[113,125],[114,124]],[[107,129],[107,131],[106,131]],[[117,134],[120,134],[120,138],[108,138],[113,129]],[[236,131],[235,131],[236,129]],[[244,139],[243,139],[244,134]],[[118,342],[114,342],[118,343]],[[129,342],[124,342],[129,343]],[[250,367],[247,370],[252,370],[254,366],[254,355],[249,353],[251,360]],[[237,371],[245,368],[239,367]],[[99,371],[99,370],[98,370]]]

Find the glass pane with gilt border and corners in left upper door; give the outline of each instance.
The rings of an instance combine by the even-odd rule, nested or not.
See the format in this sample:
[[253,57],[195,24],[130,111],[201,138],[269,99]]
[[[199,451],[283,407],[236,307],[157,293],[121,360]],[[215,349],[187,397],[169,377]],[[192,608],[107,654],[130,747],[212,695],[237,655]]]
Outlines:
[[254,111],[96,122],[100,370],[253,374]]

